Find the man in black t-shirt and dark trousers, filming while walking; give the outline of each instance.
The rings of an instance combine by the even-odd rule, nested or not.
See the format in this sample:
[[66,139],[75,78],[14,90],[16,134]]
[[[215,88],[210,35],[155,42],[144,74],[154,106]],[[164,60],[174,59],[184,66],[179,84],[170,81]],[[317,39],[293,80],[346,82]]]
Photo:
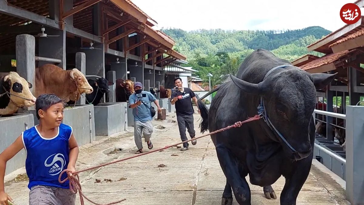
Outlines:
[[[186,128],[188,133],[190,134],[191,139],[195,138],[195,129],[193,126],[193,106],[192,101],[195,101],[197,106],[197,98],[195,93],[189,88],[182,87],[182,80],[181,78],[177,77],[174,78],[174,85],[178,87],[178,90],[171,94],[171,104],[176,107],[176,114],[177,114],[177,123],[179,128],[179,135],[181,135],[181,140],[186,141]],[[198,113],[200,111],[198,110]],[[191,143],[195,145],[197,140],[192,140]],[[181,151],[188,150],[188,143],[183,143],[183,148]]]

